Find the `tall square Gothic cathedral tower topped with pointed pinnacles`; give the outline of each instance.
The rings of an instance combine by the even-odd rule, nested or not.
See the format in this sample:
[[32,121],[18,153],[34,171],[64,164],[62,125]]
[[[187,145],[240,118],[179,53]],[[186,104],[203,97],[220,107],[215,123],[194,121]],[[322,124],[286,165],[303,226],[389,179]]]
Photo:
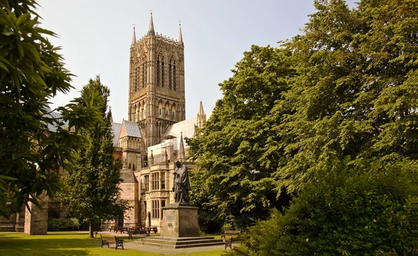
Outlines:
[[132,35],[129,73],[129,120],[137,122],[146,147],[160,143],[165,129],[185,120],[185,58],[181,27],[178,40],[155,33],[151,13],[148,33]]

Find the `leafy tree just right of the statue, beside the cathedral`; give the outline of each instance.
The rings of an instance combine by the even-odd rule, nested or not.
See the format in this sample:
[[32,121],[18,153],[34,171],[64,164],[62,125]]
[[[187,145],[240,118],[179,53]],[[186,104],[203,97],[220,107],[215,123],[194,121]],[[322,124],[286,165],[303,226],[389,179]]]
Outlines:
[[287,204],[286,196],[277,198],[273,191],[277,158],[265,145],[270,111],[294,74],[289,54],[253,45],[235,65],[233,77],[219,85],[224,97],[202,135],[187,140],[189,155],[198,160],[190,180],[192,201],[203,208],[199,223],[219,227],[226,220],[243,227],[251,217],[268,216],[271,207]]

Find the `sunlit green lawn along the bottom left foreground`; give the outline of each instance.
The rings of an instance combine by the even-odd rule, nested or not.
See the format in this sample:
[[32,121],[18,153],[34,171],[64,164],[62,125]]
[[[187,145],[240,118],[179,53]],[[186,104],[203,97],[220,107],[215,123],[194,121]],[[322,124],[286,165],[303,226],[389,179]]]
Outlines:
[[[114,250],[104,247],[102,249],[100,248],[100,238],[86,239],[86,237],[87,234],[72,232],[48,232],[47,235],[42,236],[28,236],[22,233],[0,232],[0,255],[160,255],[133,249],[121,250],[118,248],[118,250]],[[124,237],[124,243],[129,243],[127,237]],[[223,250],[217,250],[178,255],[218,256],[222,255],[222,252]]]

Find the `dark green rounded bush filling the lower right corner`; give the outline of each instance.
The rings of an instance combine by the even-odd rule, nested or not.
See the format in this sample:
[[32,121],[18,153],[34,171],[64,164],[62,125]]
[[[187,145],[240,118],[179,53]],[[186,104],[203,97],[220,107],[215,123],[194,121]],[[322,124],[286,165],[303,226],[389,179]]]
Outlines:
[[[248,231],[231,255],[380,255],[412,246],[417,166],[316,175],[281,215]],[[411,197],[411,195],[415,195]],[[416,206],[415,206],[416,208]]]

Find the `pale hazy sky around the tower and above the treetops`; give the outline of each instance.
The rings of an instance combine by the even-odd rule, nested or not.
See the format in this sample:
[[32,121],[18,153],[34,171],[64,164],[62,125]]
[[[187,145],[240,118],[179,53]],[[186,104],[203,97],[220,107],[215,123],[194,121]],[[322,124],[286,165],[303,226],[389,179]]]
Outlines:
[[[350,8],[355,0],[348,0]],[[129,53],[135,26],[137,39],[148,32],[150,10],[155,32],[178,39],[181,22],[185,45],[186,118],[197,114],[199,102],[212,111],[222,98],[219,83],[251,45],[271,45],[300,34],[315,13],[313,0],[38,0],[43,29],[76,77],[75,88],[52,99],[54,106],[79,97],[88,79],[100,75],[110,89],[114,122],[127,120]]]

